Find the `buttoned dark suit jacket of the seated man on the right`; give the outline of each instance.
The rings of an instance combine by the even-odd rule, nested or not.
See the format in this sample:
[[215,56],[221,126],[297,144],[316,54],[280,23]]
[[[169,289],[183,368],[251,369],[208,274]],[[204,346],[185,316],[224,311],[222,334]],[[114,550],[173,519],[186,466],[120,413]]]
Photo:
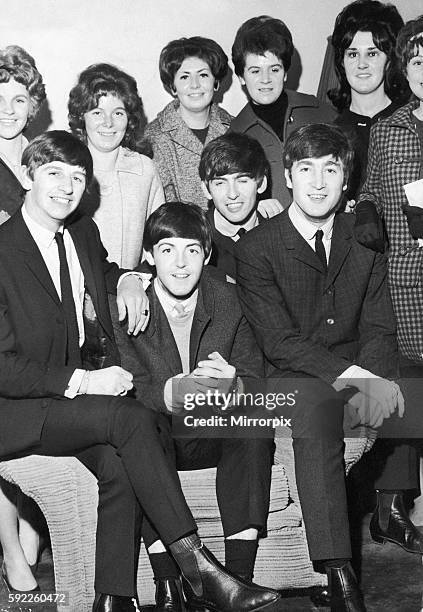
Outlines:
[[332,384],[353,364],[396,375],[386,258],[356,242],[353,225],[353,215],[336,215],[327,274],[288,210],[237,243],[241,306],[270,375],[303,373]]

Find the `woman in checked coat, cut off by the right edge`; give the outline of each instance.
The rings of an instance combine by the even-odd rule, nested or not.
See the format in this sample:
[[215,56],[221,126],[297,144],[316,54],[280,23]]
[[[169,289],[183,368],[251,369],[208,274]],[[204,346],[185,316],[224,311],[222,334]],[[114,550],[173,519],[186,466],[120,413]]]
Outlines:
[[[397,54],[413,100],[372,128],[367,180],[358,201],[374,203],[385,219],[399,349],[405,365],[423,367],[423,208],[410,205],[404,190],[423,179],[423,16],[401,29]],[[414,186],[420,205],[422,185]]]

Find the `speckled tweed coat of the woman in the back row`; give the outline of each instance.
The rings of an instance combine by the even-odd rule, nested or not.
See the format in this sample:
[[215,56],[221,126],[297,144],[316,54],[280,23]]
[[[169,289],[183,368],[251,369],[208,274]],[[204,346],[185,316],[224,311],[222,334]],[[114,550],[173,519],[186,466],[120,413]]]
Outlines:
[[[145,138],[151,143],[154,161],[163,184],[166,202],[179,200],[207,209],[207,198],[198,176],[203,144],[177,112],[179,100],[173,100],[149,123]],[[205,144],[224,134],[231,115],[217,104],[210,108],[210,125]]]

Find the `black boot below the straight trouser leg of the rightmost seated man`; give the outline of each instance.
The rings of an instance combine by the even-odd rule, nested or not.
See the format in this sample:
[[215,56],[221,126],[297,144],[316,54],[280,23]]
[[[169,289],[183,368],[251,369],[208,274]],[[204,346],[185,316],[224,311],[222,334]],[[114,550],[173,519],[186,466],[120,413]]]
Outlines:
[[331,612],[366,612],[351,563],[328,569]]

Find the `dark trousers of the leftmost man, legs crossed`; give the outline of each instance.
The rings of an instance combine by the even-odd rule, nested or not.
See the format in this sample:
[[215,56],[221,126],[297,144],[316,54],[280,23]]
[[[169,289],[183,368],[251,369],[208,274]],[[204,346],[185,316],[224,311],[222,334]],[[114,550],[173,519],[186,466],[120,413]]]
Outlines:
[[[103,451],[98,445],[104,445]],[[39,446],[31,452],[80,456],[94,472],[98,470],[98,592],[134,594],[138,505],[166,544],[197,529],[163,448],[155,413],[135,400],[52,400]]]

